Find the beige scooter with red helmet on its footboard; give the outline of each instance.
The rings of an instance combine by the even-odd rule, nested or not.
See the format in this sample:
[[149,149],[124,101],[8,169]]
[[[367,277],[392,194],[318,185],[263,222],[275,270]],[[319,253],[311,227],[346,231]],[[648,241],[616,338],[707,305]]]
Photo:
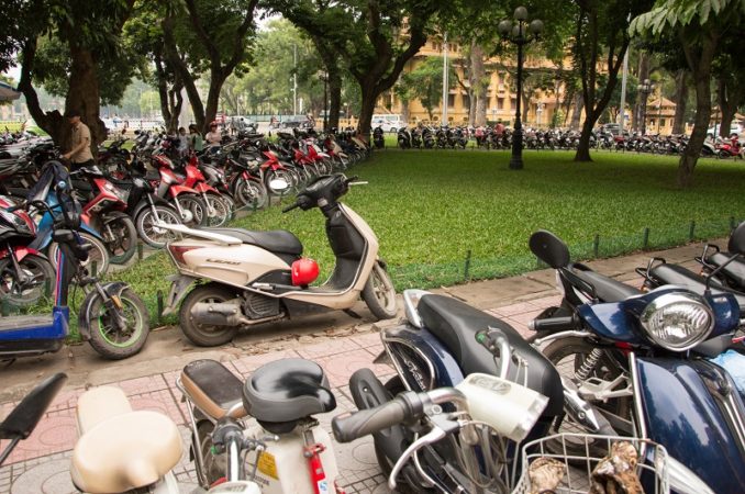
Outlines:
[[[283,210],[319,207],[326,217],[336,265],[320,287],[310,287],[318,265],[301,257],[302,244],[290,232],[163,225],[186,237],[167,246],[179,273],[170,277],[164,314],[181,303],[181,329],[200,346],[229,343],[242,326],[348,310],[360,293],[376,317],[394,317],[396,289],[378,258],[378,239],[357,213],[338,202],[353,180],[342,173],[320,177]],[[197,284],[201,280],[209,282]]]

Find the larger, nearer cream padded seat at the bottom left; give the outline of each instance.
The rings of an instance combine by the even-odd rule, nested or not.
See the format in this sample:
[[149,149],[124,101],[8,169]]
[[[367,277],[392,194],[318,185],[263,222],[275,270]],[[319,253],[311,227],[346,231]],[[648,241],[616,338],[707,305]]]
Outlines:
[[130,412],[100,422],[78,439],[70,475],[82,492],[127,492],[157,482],[181,452],[174,420],[157,412]]

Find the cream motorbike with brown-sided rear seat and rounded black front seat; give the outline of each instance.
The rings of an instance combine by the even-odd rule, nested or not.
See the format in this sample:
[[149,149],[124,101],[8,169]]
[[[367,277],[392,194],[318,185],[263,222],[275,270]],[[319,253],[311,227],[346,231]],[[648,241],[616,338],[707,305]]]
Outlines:
[[[313,415],[336,407],[321,367],[282,359],[242,382],[222,363],[197,360],[184,368],[177,388],[191,427],[190,458],[203,489],[246,479],[265,493],[343,493],[329,433]],[[241,461],[231,461],[232,459]]]

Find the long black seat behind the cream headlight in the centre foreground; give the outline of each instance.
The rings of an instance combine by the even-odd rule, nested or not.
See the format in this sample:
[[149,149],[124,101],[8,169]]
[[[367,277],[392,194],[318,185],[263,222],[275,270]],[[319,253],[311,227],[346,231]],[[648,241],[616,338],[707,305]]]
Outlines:
[[[499,368],[492,355],[476,341],[476,333],[488,327],[501,329],[515,356],[527,362],[527,388],[548,397],[545,415],[561,414],[564,392],[556,368],[536,349],[531,347],[509,324],[471,307],[456,299],[444,295],[424,295],[418,311],[422,322],[435,335],[460,364],[464,375],[482,372],[497,375]],[[508,379],[523,384],[524,368],[510,366]]]

